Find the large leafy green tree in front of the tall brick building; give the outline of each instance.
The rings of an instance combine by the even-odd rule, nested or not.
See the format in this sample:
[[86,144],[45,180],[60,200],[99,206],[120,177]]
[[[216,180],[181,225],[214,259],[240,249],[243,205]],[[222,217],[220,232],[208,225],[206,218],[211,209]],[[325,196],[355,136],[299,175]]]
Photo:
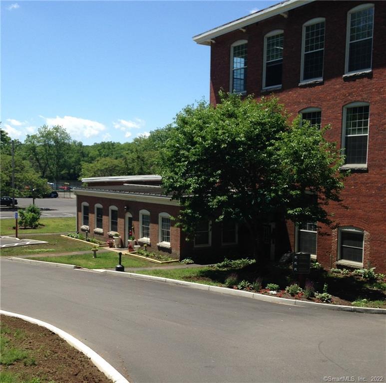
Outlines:
[[202,219],[244,222],[257,257],[261,225],[274,216],[331,223],[325,206],[340,200],[344,175],[324,138],[328,128],[290,124],[276,98],[221,98],[216,107],[187,106],[161,148],[163,185],[182,207],[179,225],[193,234]]

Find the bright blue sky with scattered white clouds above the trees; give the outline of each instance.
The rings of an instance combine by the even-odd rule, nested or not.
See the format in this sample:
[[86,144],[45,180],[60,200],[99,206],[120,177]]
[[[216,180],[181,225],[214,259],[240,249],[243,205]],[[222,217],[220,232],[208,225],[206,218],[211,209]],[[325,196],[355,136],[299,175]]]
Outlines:
[[278,1],[1,1],[1,127],[128,142],[209,98],[192,36]]

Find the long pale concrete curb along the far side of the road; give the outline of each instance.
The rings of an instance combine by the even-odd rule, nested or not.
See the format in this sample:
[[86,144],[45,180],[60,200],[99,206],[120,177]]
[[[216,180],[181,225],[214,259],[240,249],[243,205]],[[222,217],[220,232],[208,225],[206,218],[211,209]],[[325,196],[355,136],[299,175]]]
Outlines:
[[[47,265],[53,265],[53,266],[58,266],[58,267],[61,266],[61,267],[67,267],[67,268],[72,268],[72,269],[76,268],[76,266],[74,266],[74,265],[65,265],[65,264],[61,264],[61,263],[43,262],[43,261],[32,261],[30,259],[23,259],[23,258],[8,258],[8,260],[15,260],[18,262],[19,261],[21,261],[21,262],[25,261],[26,263],[37,262],[34,264],[44,263]],[[84,271],[86,269],[78,269],[78,270]],[[252,298],[252,299],[259,300],[259,301],[278,303],[278,304],[282,304],[282,305],[292,305],[292,306],[300,306],[300,307],[315,307],[315,308],[325,309],[325,310],[350,311],[350,312],[354,312],[354,313],[386,314],[386,309],[373,309],[373,308],[369,308],[369,307],[329,305],[327,303],[298,301],[296,299],[273,297],[273,296],[265,295],[265,294],[251,293],[249,291],[234,290],[234,289],[229,289],[227,287],[211,286],[211,285],[204,285],[201,283],[179,281],[178,279],[156,277],[153,275],[126,273],[126,272],[122,272],[122,271],[105,270],[105,269],[92,269],[89,271],[98,272],[98,273],[104,274],[104,275],[108,274],[108,275],[124,277],[124,278],[136,278],[136,279],[151,280],[151,281],[155,281],[155,282],[165,282],[165,283],[169,283],[172,285],[186,286],[186,287],[196,289],[196,290],[206,290],[206,291],[212,291],[212,292],[220,293],[220,294],[236,295],[239,297]]]

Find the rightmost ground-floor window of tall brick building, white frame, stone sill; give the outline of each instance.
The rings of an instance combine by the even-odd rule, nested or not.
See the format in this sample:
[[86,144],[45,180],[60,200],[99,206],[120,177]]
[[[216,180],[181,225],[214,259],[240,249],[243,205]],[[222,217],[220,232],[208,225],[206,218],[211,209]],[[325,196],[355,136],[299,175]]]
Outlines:
[[363,264],[364,231],[356,227],[338,230],[338,261]]

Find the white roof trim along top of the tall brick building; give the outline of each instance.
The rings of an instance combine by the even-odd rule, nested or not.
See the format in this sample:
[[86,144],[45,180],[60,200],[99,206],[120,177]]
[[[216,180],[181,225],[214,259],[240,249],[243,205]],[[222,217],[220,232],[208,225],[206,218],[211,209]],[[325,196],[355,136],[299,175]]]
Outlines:
[[222,34],[232,32],[236,29],[243,28],[247,25],[253,24],[255,22],[264,20],[272,16],[276,16],[278,14],[287,12],[294,8],[298,8],[299,6],[308,4],[313,1],[316,1],[316,0],[288,0],[285,2],[280,2],[276,5],[270,6],[268,8],[262,9],[255,13],[241,17],[237,20],[234,20],[229,23],[220,25],[216,28],[210,29],[204,33],[193,36],[193,40],[197,44],[210,45],[211,43],[210,40],[212,40],[215,37],[221,36]]

